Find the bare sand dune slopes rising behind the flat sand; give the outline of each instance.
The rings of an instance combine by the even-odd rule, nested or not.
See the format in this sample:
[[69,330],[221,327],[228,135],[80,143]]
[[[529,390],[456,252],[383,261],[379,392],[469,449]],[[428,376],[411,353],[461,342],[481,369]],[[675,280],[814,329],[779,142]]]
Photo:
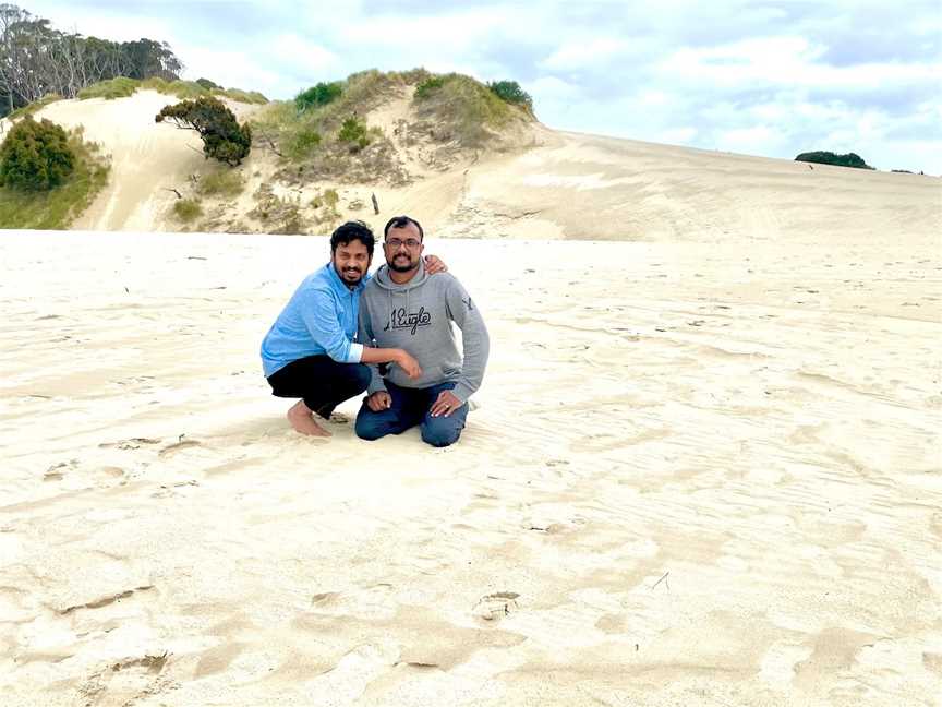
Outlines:
[[[180,230],[177,196],[198,195],[194,179],[219,167],[206,161],[192,131],[156,124],[154,116],[176,98],[141,91],[117,100],[63,100],[40,117],[87,135],[113,155],[108,189],[75,223],[87,230]],[[258,106],[227,101],[240,120]],[[247,214],[259,187],[297,200],[305,232],[318,226],[311,201],[338,190],[342,218],[382,226],[410,213],[442,238],[592,239],[631,241],[790,243],[911,243],[942,231],[942,180],[712,153],[596,135],[561,133],[535,124],[519,149],[458,155],[449,165],[424,165],[439,145],[402,132],[410,99],[397,95],[363,116],[392,139],[413,181],[281,183],[279,160],[258,135],[239,168],[246,183],[238,199],[209,200],[206,230],[269,232],[275,226]],[[400,132],[394,134],[399,125]],[[423,142],[424,141],[424,142]],[[382,178],[381,178],[382,182]],[[378,197],[374,215],[371,196]],[[204,201],[206,201],[204,199]],[[198,225],[198,224],[197,224]]]

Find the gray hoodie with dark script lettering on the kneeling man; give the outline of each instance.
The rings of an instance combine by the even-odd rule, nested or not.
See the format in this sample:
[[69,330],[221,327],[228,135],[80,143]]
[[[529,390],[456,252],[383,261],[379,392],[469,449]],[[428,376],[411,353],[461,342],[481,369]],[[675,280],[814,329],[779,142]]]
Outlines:
[[[451,322],[461,329],[463,361]],[[454,381],[452,393],[462,403],[481,386],[491,348],[481,312],[461,283],[450,273],[430,277],[424,264],[404,285],[394,283],[385,265],[379,268],[360,296],[359,340],[404,349],[419,361],[422,375],[415,380],[398,366],[389,368],[388,378],[396,385],[424,388]],[[370,368],[370,393],[385,391],[377,367]]]

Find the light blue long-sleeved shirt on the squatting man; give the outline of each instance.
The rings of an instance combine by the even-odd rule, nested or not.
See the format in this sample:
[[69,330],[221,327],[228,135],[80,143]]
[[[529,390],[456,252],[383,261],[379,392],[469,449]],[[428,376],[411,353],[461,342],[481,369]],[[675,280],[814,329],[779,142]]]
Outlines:
[[262,341],[265,378],[309,356],[359,363],[363,345],[357,343],[357,313],[369,277],[351,290],[333,263],[305,277]]

